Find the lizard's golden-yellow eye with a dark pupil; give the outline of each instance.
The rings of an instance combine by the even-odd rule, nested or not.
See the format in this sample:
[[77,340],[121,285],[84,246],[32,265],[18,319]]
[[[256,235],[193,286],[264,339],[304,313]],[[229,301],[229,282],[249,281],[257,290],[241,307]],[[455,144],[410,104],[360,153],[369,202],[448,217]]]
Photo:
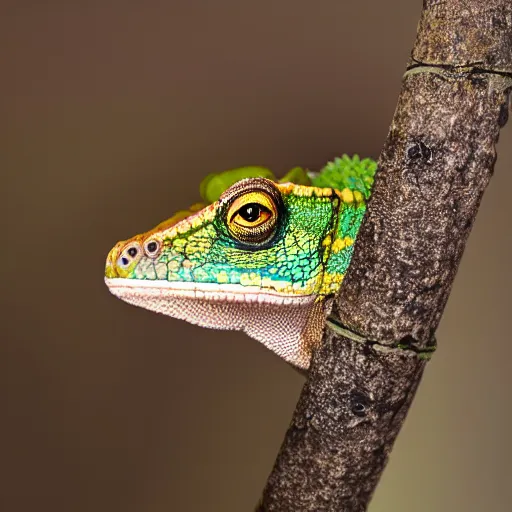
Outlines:
[[261,244],[274,234],[277,215],[274,199],[263,190],[252,190],[231,203],[226,221],[231,235],[237,240]]

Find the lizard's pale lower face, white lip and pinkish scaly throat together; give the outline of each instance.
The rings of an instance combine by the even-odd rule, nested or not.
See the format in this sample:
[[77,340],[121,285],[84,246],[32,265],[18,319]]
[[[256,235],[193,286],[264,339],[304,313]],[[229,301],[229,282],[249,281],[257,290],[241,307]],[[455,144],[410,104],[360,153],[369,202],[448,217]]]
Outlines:
[[213,329],[240,330],[288,363],[310,364],[320,342],[324,302],[257,286],[105,278],[111,293],[134,306]]

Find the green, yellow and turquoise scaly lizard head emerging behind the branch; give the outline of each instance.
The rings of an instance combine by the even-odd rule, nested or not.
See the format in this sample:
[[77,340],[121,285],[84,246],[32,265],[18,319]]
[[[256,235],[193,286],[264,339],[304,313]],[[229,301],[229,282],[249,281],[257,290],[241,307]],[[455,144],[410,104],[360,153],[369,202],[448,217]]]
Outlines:
[[350,264],[375,161],[343,155],[281,180],[264,167],[208,175],[203,203],[109,252],[118,298],[216,329],[245,331],[307,370]]

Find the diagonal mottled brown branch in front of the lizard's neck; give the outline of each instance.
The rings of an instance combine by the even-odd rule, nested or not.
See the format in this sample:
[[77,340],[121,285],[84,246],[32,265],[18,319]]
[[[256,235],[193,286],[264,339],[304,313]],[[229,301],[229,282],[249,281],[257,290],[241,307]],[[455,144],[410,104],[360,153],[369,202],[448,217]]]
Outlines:
[[435,346],[511,90],[511,0],[425,0],[352,263],[258,510],[367,509]]

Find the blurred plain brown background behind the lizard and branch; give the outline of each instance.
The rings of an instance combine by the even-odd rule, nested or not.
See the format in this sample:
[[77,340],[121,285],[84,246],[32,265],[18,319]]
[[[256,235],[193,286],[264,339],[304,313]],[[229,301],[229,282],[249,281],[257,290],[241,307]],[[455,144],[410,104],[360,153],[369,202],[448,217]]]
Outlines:
[[[302,377],[136,309],[118,240],[208,172],[377,156],[420,0],[2,2],[0,509],[248,511]],[[372,511],[512,503],[512,127]]]

